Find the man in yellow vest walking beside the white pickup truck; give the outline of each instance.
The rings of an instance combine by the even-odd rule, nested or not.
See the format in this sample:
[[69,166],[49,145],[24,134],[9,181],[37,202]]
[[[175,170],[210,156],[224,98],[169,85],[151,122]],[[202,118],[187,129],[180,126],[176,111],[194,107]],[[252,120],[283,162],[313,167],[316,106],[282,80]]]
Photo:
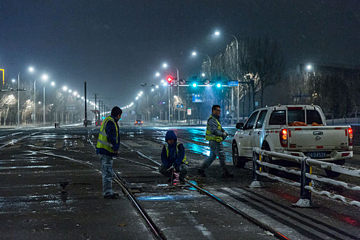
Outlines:
[[215,160],[216,157],[219,158],[220,169],[221,169],[221,177],[222,178],[232,178],[234,175],[228,172],[226,168],[226,155],[224,154],[224,149],[222,147],[221,141],[226,139],[228,133],[225,132],[224,128],[221,128],[220,123],[220,106],[214,105],[211,108],[212,114],[208,118],[208,123],[206,125],[206,141],[208,141],[208,145],[210,146],[210,156],[204,160],[202,165],[197,169],[197,172],[200,173],[201,176],[206,177],[205,169],[210,167],[211,163]]

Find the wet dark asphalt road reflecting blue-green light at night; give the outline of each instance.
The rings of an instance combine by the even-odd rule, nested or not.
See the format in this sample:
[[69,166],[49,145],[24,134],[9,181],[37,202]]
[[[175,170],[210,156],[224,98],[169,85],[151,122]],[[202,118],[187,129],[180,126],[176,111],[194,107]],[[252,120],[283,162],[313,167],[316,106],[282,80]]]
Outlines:
[[[121,126],[121,141],[131,149],[121,147],[123,159],[115,159],[114,168],[133,189],[139,189],[136,197],[164,230],[168,239],[224,239],[224,236],[226,239],[274,238],[269,237],[267,232],[249,221],[239,219],[239,216],[209,200],[208,197],[196,191],[173,189],[167,185],[166,178],[160,176],[157,171],[125,161],[133,160],[156,167],[155,164],[141,158],[135,151],[160,162],[159,156],[165,132],[169,129],[175,130],[179,141],[184,143],[190,162],[189,178],[191,180],[224,198],[245,213],[261,219],[269,226],[276,227],[290,239],[359,238],[360,218],[357,207],[313,195],[313,202],[319,208],[291,208],[291,203],[298,200],[298,189],[272,180],[264,181],[267,189],[248,189],[248,184],[252,181],[251,167],[247,165],[245,169],[237,169],[232,166],[231,137],[225,141],[224,148],[228,168],[235,174],[235,178],[220,178],[217,161],[206,172],[207,178],[201,178],[197,176],[196,169],[208,155],[208,146],[204,143],[205,127],[123,125]],[[114,220],[117,222],[113,227],[111,224],[108,228],[94,229],[92,227],[91,222],[94,221],[94,217],[108,219],[110,216],[101,214],[102,211],[99,210],[105,208],[108,213],[115,213],[119,212],[119,207],[114,202],[110,202],[109,205],[99,197],[101,182],[99,182],[100,177],[97,171],[89,170],[80,163],[69,163],[69,159],[66,159],[69,157],[98,165],[94,149],[86,141],[88,130],[90,128],[0,130],[0,175],[2,176],[0,220],[6,223],[0,227],[0,230],[8,232],[7,235],[3,235],[8,236],[5,239],[12,239],[14,232],[11,231],[21,230],[24,235],[21,235],[23,238],[19,237],[19,239],[29,238],[24,238],[26,234],[33,239],[64,239],[65,237],[100,239],[104,236],[106,239],[119,239],[119,236],[123,236],[120,237],[121,239],[149,239],[151,235],[142,221],[134,224],[131,230],[119,229],[119,226],[122,226],[119,224],[120,220]],[[230,136],[235,133],[235,128],[226,128],[226,130]],[[98,128],[90,131],[89,136],[93,143],[96,143],[97,132]],[[9,134],[12,135],[9,136]],[[17,140],[9,142],[6,139]],[[4,145],[5,143],[8,145]],[[356,143],[357,139],[355,139]],[[355,160],[349,161],[349,164],[357,165],[357,158],[359,154],[355,151]],[[62,171],[69,175],[62,176]],[[321,174],[324,176],[324,173]],[[42,175],[49,176],[52,180],[45,180],[41,177]],[[348,180],[343,176],[339,179]],[[64,200],[64,195],[61,194],[58,186],[59,180],[80,184],[69,186],[69,196]],[[95,185],[81,184],[94,181]],[[357,181],[354,183],[360,185]],[[74,195],[75,189],[79,192]],[[122,201],[126,202],[126,200]],[[91,215],[91,204],[96,205],[95,216]],[[86,205],[90,209],[86,209]],[[121,205],[125,206],[125,204]],[[46,220],[44,215],[47,216]],[[71,219],[73,221],[77,219],[80,222],[79,215],[84,215],[80,218],[86,219],[82,219],[80,227],[75,222],[69,226]],[[126,215],[125,219],[136,219],[134,211],[120,211],[119,215]],[[86,228],[87,225],[88,228]],[[26,232],[27,228],[31,235]],[[59,232],[66,233],[59,234]],[[37,235],[38,233],[40,235]]]

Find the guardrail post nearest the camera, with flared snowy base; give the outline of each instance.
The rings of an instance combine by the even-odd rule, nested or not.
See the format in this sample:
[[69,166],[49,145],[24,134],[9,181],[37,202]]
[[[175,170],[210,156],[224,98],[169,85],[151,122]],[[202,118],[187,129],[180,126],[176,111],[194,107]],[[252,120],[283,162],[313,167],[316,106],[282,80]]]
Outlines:
[[305,186],[310,186],[311,180],[307,178],[306,173],[310,173],[311,166],[307,164],[307,158],[301,160],[301,176],[300,176],[300,199],[296,204],[292,204],[294,207],[299,208],[313,208],[313,202],[311,201],[311,191],[305,189]]

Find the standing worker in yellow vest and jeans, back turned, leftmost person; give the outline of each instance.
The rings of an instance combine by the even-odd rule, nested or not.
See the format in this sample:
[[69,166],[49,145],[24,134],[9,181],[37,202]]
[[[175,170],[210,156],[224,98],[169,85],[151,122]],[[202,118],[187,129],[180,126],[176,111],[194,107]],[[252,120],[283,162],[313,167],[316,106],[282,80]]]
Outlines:
[[104,119],[97,139],[96,153],[99,154],[102,173],[102,189],[105,199],[117,199],[119,193],[112,191],[112,157],[119,156],[120,134],[117,121],[123,111],[115,106],[111,116]]

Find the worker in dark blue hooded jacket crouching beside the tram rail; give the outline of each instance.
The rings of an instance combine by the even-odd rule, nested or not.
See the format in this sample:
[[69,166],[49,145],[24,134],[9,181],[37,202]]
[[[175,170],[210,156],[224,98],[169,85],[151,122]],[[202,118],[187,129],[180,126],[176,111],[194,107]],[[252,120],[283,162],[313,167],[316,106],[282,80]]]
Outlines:
[[[184,178],[187,176],[189,169],[184,145],[178,143],[178,138],[173,131],[167,131],[165,141],[166,143],[163,147],[163,152],[161,152],[161,161],[163,162],[163,165],[159,167],[159,171],[164,176],[170,177],[169,182],[171,182],[174,178],[174,176],[171,176],[171,173],[172,170],[175,169],[176,173],[180,173],[180,182],[184,182]],[[171,167],[173,167],[173,169]]]

